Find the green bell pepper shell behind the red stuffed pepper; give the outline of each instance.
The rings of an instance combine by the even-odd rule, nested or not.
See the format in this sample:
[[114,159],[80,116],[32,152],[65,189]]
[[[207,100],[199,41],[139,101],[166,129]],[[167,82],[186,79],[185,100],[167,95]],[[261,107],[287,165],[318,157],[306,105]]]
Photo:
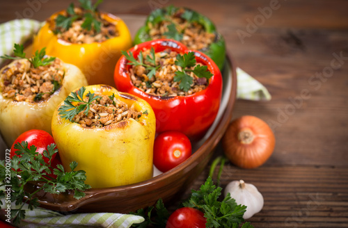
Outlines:
[[[219,69],[222,70],[226,59],[225,40],[223,39],[222,35],[216,31],[216,27],[210,19],[189,8],[168,6],[166,8],[153,10],[146,19],[145,24],[136,32],[134,44],[140,44],[142,42],[153,40],[150,35],[150,28],[164,21],[171,22],[173,15],[175,15],[175,17],[181,17],[189,23],[196,22],[203,26],[205,32],[214,33],[214,42],[209,44],[208,47],[198,49],[198,51],[201,51],[212,58]],[[161,38],[173,39],[181,42],[184,31],[177,31],[176,29],[173,29],[169,31],[170,29],[168,28],[169,32],[162,34]],[[193,48],[189,47],[189,49]]]

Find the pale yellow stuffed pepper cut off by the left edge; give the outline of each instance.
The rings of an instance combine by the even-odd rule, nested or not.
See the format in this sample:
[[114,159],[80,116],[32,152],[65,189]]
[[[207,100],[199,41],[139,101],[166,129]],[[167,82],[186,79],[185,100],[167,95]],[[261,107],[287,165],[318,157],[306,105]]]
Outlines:
[[45,56],[45,49],[25,58],[24,47],[15,44],[15,56],[1,56],[15,58],[0,70],[0,131],[8,147],[30,129],[51,133],[56,106],[87,85],[78,67]]

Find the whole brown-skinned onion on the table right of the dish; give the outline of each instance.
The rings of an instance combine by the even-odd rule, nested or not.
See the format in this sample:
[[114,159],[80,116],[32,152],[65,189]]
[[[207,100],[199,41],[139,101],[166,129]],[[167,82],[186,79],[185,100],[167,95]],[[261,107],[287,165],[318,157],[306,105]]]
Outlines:
[[266,122],[244,115],[230,123],[222,145],[231,163],[239,168],[251,169],[267,161],[274,151],[276,138]]

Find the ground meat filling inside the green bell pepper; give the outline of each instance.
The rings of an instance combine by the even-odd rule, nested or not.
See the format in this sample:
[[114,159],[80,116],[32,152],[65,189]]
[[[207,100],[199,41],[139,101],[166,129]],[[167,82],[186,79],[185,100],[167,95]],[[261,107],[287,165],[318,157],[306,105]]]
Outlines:
[[214,42],[216,34],[207,33],[203,25],[197,22],[187,22],[185,19],[182,19],[180,17],[182,13],[184,13],[184,9],[180,8],[174,15],[158,24],[153,25],[149,22],[149,34],[152,40],[166,38],[164,33],[168,31],[167,26],[174,23],[177,31],[182,31],[183,36],[180,42],[185,44],[189,49],[201,50],[209,47]]

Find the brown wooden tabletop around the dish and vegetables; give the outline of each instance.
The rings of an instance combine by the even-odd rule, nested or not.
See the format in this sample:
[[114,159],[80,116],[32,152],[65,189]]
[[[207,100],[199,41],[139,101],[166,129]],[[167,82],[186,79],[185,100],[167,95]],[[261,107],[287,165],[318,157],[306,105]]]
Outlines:
[[[43,21],[69,3],[1,1],[0,23]],[[244,179],[264,196],[262,211],[249,221],[255,227],[348,227],[348,1],[105,0],[100,9],[139,15],[125,18],[134,26],[169,4],[212,19],[237,65],[272,95],[271,101],[239,99],[232,117],[260,117],[276,136],[274,154],[262,167],[228,163],[223,169],[222,186]],[[222,153],[219,145],[216,154]],[[192,188],[206,177],[207,170]]]

